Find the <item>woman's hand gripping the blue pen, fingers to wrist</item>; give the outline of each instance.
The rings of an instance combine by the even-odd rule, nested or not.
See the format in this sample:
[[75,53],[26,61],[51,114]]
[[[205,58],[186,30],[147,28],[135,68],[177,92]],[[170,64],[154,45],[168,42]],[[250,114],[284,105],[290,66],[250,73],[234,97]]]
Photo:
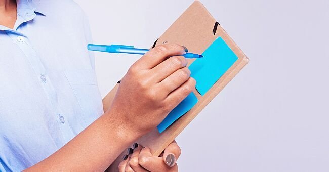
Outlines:
[[174,56],[185,53],[177,44],[156,46],[122,78],[109,111],[135,136],[151,131],[192,92],[196,82],[190,77],[187,60]]

